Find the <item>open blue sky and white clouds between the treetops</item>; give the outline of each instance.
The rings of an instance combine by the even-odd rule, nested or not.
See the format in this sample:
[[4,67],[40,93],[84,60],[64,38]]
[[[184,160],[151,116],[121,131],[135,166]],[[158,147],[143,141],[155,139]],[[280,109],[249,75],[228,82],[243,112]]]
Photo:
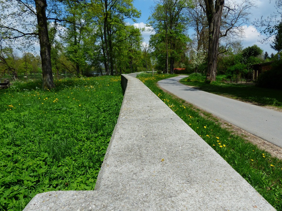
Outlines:
[[[251,13],[249,14],[250,21],[254,21],[254,19],[260,19],[261,16],[267,17],[271,14],[274,14],[277,10],[275,8],[275,0],[254,0],[254,3],[256,5],[256,8],[253,8]],[[155,5],[154,0],[135,0],[133,2],[133,5],[135,8],[141,11],[141,17],[137,19],[137,23],[134,25],[140,28],[145,27],[145,24],[147,23],[148,17],[151,14],[151,7]],[[133,24],[132,21],[128,20],[130,24]],[[265,35],[260,35],[260,32],[256,30],[256,28],[253,25],[244,25],[245,29],[245,37],[242,38],[242,45],[243,47],[252,46],[254,44],[258,45],[261,49],[263,49],[263,52],[267,51],[270,55],[271,53],[276,53],[271,47],[271,41],[268,43],[261,43],[258,42],[258,40],[262,40],[265,38]],[[142,33],[144,42],[149,43],[150,39],[150,32],[144,32]],[[190,38],[192,37],[193,32],[190,34]]]

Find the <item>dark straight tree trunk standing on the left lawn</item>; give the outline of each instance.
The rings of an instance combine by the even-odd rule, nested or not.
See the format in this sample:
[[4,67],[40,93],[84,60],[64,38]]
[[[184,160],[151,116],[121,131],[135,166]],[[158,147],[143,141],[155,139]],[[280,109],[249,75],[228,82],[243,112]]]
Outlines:
[[53,89],[52,65],[51,65],[51,45],[48,37],[47,18],[46,18],[46,0],[35,0],[36,16],[38,24],[38,34],[40,42],[40,56],[42,63],[42,87],[43,89]]

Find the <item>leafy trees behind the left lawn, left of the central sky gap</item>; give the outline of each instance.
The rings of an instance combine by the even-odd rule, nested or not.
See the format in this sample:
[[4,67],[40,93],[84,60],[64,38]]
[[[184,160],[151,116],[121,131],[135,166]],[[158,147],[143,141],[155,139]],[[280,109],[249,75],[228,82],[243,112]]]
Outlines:
[[[113,75],[151,67],[148,46],[142,45],[141,29],[126,23],[127,19],[135,21],[140,17],[132,0],[1,0],[0,3],[2,75],[21,73],[14,45],[30,49],[38,42],[43,89],[54,88],[52,75],[56,73],[80,76],[100,71]],[[10,62],[11,59],[15,61]]]

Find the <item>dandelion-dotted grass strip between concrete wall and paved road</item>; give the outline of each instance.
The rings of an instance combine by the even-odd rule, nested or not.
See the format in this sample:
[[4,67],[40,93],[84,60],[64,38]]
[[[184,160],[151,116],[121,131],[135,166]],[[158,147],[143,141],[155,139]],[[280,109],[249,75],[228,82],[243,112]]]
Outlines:
[[[156,85],[171,75],[140,74],[137,76],[164,103],[219,153],[251,186],[253,186],[276,210],[282,210],[282,161],[265,151],[232,135],[208,117],[202,117],[191,104],[174,97]],[[208,116],[208,115],[207,115]]]

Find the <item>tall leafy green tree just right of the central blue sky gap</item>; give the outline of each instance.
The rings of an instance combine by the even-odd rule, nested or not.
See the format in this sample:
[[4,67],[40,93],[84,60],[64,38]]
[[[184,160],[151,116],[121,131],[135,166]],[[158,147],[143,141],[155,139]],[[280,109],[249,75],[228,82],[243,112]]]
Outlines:
[[174,62],[186,49],[188,36],[184,32],[188,19],[185,10],[189,4],[189,1],[184,0],[160,0],[149,18],[149,26],[156,32],[150,45],[155,43],[160,46],[162,43],[162,49],[165,49],[164,73],[170,69],[173,74]]

